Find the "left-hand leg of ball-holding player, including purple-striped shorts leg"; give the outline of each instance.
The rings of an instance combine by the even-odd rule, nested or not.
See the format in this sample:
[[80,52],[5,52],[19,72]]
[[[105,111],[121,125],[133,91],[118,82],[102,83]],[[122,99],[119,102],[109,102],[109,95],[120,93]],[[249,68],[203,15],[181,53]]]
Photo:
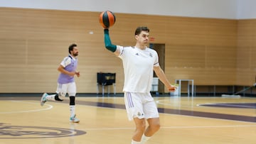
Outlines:
[[142,100],[139,93],[124,92],[124,103],[129,121],[134,121],[136,130],[132,136],[132,144],[140,143],[146,128]]

